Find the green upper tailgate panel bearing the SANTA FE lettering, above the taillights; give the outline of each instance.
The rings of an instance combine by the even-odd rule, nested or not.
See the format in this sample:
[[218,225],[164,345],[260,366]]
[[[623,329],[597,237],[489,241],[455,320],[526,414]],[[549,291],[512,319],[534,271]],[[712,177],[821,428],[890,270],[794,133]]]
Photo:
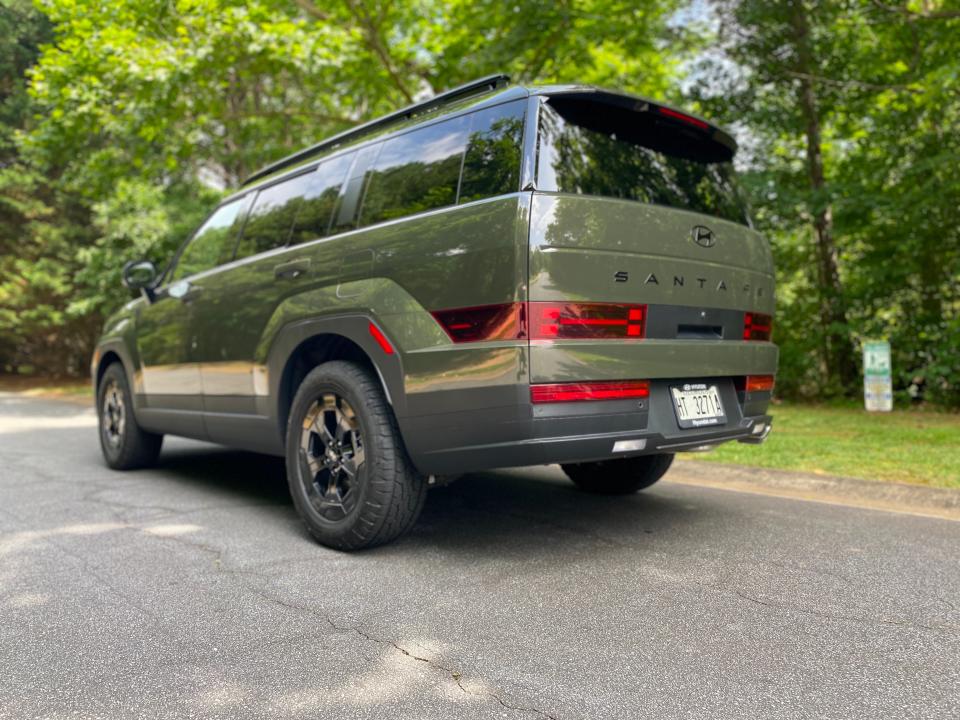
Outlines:
[[[695,226],[715,245],[693,240]],[[628,273],[616,282],[614,274]],[[771,314],[773,257],[743,225],[626,200],[536,193],[530,299],[661,303]]]

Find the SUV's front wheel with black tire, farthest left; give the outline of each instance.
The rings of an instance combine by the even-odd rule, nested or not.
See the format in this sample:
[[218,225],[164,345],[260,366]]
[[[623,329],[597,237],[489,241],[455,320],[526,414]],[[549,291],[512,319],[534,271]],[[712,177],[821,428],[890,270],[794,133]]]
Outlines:
[[163,435],[137,424],[127,373],[119,362],[107,367],[97,386],[97,421],[100,449],[111,468],[135,470],[156,463]]

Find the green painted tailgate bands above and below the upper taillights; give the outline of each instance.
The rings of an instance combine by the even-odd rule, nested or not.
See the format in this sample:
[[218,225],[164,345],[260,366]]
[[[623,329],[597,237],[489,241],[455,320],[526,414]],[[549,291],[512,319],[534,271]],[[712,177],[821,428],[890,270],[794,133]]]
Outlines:
[[[715,244],[694,242],[695,226]],[[625,282],[617,274],[626,273]],[[759,233],[637,202],[535,193],[530,299],[724,308],[773,314],[773,257]],[[777,348],[743,341],[534,342],[531,382],[773,374]]]

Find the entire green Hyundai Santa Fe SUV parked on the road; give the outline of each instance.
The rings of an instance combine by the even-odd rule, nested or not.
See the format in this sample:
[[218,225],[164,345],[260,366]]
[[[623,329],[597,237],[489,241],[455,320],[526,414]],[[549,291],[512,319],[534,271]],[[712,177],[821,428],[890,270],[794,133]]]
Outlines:
[[757,443],[777,367],[770,248],[700,118],[484,78],[270,165],[93,358],[117,469],[164,434],[286,457],[321,543],[415,522],[438,478],[560,463],[629,493]]

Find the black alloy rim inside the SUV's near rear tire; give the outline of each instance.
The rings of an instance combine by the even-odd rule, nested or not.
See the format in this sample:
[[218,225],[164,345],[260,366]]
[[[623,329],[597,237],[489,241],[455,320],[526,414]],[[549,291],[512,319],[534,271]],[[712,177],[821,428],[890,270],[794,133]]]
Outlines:
[[320,517],[342,520],[357,505],[364,452],[357,414],[344,398],[324,393],[310,405],[300,434],[300,480]]

